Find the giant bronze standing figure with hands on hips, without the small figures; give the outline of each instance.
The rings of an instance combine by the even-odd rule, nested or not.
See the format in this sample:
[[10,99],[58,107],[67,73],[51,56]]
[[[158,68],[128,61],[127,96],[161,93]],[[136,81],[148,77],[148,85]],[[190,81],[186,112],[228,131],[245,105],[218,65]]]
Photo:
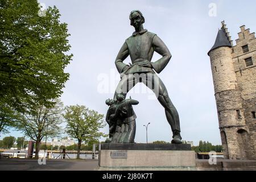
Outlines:
[[[138,82],[143,82],[154,91],[160,104],[165,109],[167,121],[170,123],[173,133],[172,143],[182,143],[179,114],[168,96],[166,86],[155,74],[155,72],[160,73],[163,71],[171,59],[171,53],[156,34],[143,28],[144,22],[145,19],[141,11],[131,11],[130,24],[134,26],[135,32],[130,38],[126,39],[115,60],[118,72],[121,73],[121,81],[115,90],[114,100],[117,100],[118,94],[122,94],[126,98],[127,92],[134,85]],[[153,63],[151,59],[154,52],[163,57]],[[130,65],[123,63],[128,56],[131,57],[132,64]]]

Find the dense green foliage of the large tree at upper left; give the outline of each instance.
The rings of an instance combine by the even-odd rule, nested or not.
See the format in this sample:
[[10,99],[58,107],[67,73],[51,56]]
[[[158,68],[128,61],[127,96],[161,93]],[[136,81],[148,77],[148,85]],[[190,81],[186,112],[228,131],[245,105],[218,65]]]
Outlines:
[[62,93],[69,74],[64,68],[68,30],[60,23],[59,10],[48,7],[39,16],[37,0],[5,0],[0,3],[0,104],[18,110],[49,101]]

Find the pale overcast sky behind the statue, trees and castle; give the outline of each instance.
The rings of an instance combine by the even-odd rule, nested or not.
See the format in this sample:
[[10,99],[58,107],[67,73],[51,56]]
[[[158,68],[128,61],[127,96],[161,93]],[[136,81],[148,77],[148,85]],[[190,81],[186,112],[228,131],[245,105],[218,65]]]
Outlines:
[[[112,98],[119,81],[115,57],[125,39],[134,29],[130,26],[131,10],[141,10],[144,28],[157,34],[172,53],[172,59],[159,77],[180,115],[183,140],[199,140],[221,144],[210,60],[207,55],[213,46],[221,21],[225,19],[233,40],[238,39],[240,26],[256,30],[254,0],[247,1],[97,1],[97,0],[40,0],[46,6],[60,10],[61,22],[68,23],[73,60],[66,72],[70,73],[61,100],[64,105],[85,105],[106,114],[107,98]],[[209,8],[216,4],[216,16]],[[213,7],[212,5],[210,7]],[[210,15],[209,16],[209,11]],[[159,59],[155,53],[152,61]],[[129,63],[127,58],[125,63]],[[102,89],[102,85],[105,89]],[[135,86],[129,93],[140,103],[134,106],[137,114],[135,142],[171,141],[171,127],[163,107],[152,100],[152,92]],[[108,126],[103,130],[108,133]],[[7,135],[20,137],[14,131]],[[1,138],[7,136],[2,135]]]

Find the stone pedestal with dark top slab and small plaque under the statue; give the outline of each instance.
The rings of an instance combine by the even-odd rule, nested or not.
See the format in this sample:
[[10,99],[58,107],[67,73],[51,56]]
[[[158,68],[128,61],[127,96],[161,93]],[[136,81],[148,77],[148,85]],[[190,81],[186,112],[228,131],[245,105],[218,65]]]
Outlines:
[[190,144],[102,144],[99,170],[196,170]]

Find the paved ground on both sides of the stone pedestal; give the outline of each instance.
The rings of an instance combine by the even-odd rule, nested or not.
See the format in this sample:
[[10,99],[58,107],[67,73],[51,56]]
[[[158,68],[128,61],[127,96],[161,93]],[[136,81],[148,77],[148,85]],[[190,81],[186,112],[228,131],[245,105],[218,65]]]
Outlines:
[[[43,163],[43,162],[41,162]],[[217,160],[210,165],[209,160],[196,160],[197,170],[256,170],[255,160]],[[46,164],[39,164],[35,159],[0,159],[0,171],[94,171],[98,160],[49,159]]]

